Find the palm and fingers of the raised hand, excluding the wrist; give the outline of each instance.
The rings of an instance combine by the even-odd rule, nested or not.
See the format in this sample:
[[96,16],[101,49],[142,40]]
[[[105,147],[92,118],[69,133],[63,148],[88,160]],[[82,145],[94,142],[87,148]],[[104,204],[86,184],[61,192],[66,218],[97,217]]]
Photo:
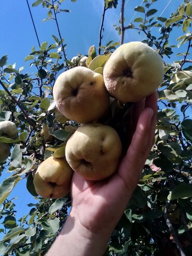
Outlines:
[[102,181],[87,181],[74,173],[72,212],[88,230],[94,233],[111,232],[120,219],[152,148],[156,113],[157,92],[134,104],[131,144],[112,177]]

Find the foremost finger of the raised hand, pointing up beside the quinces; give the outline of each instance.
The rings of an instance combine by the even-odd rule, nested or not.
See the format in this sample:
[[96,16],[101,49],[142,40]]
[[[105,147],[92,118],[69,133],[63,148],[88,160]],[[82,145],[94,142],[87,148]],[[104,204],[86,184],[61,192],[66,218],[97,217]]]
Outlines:
[[148,145],[148,139],[151,136],[149,132],[153,115],[154,111],[150,108],[146,108],[141,113],[127,154],[120,163],[118,174],[128,187],[133,188],[138,183],[151,148],[151,145]]

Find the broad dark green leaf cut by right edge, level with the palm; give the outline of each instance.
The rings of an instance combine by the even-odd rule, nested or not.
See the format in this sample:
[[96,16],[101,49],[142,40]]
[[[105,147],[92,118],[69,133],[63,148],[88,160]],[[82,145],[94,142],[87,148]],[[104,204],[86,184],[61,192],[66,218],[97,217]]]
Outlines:
[[181,183],[175,186],[173,191],[168,195],[169,200],[190,197],[192,197],[192,184],[190,183]]

